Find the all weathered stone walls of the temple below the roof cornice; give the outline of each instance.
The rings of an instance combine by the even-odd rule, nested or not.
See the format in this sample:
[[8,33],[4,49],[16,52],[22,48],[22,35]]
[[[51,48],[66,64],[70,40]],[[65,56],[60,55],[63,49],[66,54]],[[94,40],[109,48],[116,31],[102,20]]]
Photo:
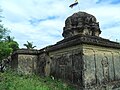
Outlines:
[[120,49],[78,44],[37,53],[19,50],[13,57],[12,68],[19,73],[53,76],[78,85],[79,90],[120,89]]

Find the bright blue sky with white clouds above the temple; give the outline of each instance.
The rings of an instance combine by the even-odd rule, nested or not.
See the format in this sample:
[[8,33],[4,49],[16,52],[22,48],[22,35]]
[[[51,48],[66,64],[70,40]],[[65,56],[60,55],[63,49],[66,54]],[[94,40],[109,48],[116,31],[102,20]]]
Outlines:
[[26,41],[38,49],[63,39],[65,19],[75,12],[94,15],[100,23],[101,37],[120,41],[120,0],[0,0],[3,24],[23,48]]

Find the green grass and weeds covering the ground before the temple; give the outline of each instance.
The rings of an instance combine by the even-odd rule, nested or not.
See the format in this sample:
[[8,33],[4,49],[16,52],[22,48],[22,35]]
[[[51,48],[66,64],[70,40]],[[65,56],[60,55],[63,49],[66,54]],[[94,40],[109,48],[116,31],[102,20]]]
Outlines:
[[75,90],[62,81],[38,76],[0,73],[0,90]]

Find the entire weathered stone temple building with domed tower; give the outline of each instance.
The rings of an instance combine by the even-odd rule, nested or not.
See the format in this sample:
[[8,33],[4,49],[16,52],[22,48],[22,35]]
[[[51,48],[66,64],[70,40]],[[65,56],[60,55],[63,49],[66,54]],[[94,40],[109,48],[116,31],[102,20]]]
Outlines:
[[74,13],[65,21],[63,40],[40,50],[17,50],[11,68],[63,79],[77,90],[120,90],[120,44],[100,34],[93,15]]

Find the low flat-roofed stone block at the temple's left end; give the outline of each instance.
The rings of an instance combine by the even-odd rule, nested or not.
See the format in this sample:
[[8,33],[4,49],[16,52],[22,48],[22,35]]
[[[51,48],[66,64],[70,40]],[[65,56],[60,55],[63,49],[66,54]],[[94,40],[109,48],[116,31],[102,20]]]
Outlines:
[[11,68],[18,73],[37,72],[38,50],[19,49],[11,55]]

